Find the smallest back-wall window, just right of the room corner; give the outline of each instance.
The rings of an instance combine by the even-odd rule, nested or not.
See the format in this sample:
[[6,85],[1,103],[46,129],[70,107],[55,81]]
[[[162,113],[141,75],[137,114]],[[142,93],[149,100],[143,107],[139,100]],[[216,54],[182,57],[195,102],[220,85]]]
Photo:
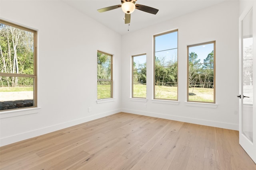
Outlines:
[[132,98],[147,97],[146,54],[132,56]]

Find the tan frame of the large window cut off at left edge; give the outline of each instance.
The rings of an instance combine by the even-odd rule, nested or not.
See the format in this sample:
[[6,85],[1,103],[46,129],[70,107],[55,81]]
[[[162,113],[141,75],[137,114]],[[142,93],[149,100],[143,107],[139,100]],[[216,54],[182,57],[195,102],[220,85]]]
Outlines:
[[29,107],[20,107],[20,108],[14,108],[14,109],[4,109],[4,110],[0,110],[1,111],[13,111],[13,110],[22,110],[22,109],[28,109],[28,108],[33,108],[33,107],[37,107],[38,106],[38,99],[37,99],[37,31],[35,29],[31,29],[22,25],[18,25],[16,23],[12,23],[10,21],[5,21],[0,19],[0,23],[3,23],[5,25],[9,25],[11,27],[16,27],[18,29],[22,29],[24,31],[28,31],[28,32],[32,32],[33,33],[33,45],[34,45],[34,53],[33,53],[33,58],[34,58],[34,69],[33,72],[34,74],[20,74],[20,73],[3,73],[0,72],[0,76],[11,76],[11,77],[24,77],[24,78],[33,78],[34,82],[33,82],[33,106],[29,106]]

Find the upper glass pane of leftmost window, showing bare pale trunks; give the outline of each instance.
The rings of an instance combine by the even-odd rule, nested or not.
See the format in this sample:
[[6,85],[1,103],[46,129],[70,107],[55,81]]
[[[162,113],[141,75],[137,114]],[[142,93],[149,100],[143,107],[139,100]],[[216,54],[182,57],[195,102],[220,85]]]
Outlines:
[[1,72],[34,74],[34,33],[0,23]]

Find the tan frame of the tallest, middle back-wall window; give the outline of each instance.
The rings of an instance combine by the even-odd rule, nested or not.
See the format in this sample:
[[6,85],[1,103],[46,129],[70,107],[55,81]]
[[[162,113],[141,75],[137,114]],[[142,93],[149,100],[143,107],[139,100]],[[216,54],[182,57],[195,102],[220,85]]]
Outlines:
[[[158,36],[161,36],[161,35],[166,35],[166,34],[169,34],[169,33],[174,33],[174,32],[177,32],[177,99],[162,99],[162,98],[156,98],[156,37]],[[164,33],[160,33],[160,34],[156,34],[153,36],[153,100],[167,100],[167,101],[178,101],[178,49],[179,49],[179,34],[178,34],[178,29],[174,29],[174,30],[171,30],[171,31],[167,31],[167,32],[164,32]]]

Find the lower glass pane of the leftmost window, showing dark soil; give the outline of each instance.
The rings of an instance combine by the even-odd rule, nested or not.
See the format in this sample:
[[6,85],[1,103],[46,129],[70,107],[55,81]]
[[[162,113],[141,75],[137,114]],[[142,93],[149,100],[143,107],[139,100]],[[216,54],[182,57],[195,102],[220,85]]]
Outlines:
[[[1,76],[0,110],[34,106],[34,78]],[[12,81],[18,86],[12,87]]]

